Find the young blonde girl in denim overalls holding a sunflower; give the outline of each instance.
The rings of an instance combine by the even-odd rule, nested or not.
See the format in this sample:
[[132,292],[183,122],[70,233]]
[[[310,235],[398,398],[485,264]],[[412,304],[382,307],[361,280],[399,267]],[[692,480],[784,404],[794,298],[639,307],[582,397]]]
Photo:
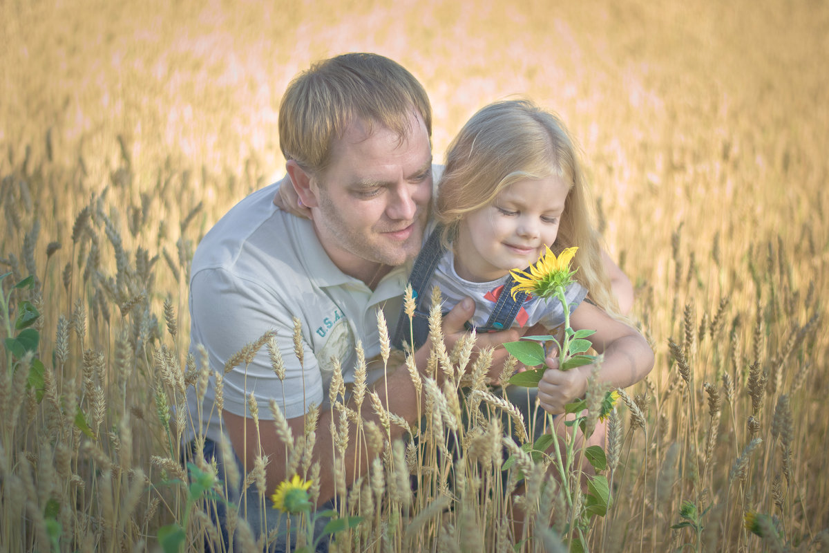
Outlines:
[[[570,326],[595,330],[589,337],[604,354],[599,378],[611,386],[640,381],[653,365],[647,341],[618,315],[597,233],[589,221],[587,188],[574,144],[555,115],[526,100],[490,104],[474,114],[450,144],[436,202],[437,225],[415,261],[414,345],[425,342],[431,290],[441,290],[444,310],[472,297],[470,321],[478,332],[564,322],[558,299],[512,299],[511,269],[525,269],[549,246],[570,246],[576,282],[566,291]],[[587,301],[584,301],[586,298]],[[398,337],[410,340],[408,318]],[[557,369],[550,356],[547,365]],[[591,366],[548,370],[538,386],[551,414],[584,395]]]

